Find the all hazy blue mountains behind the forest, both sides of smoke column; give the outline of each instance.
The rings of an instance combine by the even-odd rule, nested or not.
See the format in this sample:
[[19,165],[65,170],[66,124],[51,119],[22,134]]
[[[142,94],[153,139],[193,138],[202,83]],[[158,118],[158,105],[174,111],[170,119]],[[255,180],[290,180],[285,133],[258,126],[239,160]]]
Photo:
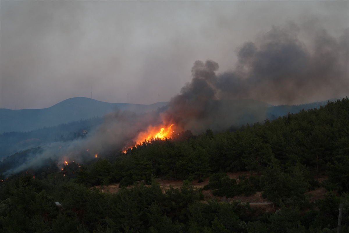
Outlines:
[[[332,99],[309,104],[278,106],[251,99],[215,100],[206,106],[207,118],[197,119],[195,125],[203,128],[192,130],[194,133],[201,133],[207,128],[216,132],[238,130],[247,123],[263,122],[266,118],[273,120],[288,113],[297,113],[302,109],[319,108],[320,105],[333,100],[335,101]],[[165,107],[167,104],[168,102],[150,105],[106,103],[76,97],[46,109],[0,109],[0,161],[31,147],[75,140],[81,137],[82,130],[92,132],[102,124],[103,116],[108,112],[117,109],[146,112]]]

